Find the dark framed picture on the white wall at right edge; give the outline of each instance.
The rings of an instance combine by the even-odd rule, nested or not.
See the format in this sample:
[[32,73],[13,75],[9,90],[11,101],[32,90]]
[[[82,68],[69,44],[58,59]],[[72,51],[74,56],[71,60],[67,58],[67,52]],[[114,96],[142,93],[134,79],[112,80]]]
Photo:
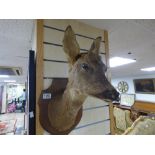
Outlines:
[[135,93],[155,94],[155,79],[134,79]]

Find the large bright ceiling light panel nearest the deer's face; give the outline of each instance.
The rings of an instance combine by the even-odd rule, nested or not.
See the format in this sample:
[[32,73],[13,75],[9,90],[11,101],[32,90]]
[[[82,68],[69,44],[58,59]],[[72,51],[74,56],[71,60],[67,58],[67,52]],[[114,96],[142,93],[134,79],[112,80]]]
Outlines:
[[113,57],[110,59],[110,67],[122,66],[134,62],[136,62],[136,60],[121,57]]

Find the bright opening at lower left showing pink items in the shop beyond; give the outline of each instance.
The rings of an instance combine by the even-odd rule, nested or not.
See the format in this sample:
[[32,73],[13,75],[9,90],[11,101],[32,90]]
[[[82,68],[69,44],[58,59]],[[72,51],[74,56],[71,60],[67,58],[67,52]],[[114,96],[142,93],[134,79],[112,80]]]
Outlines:
[[0,84],[0,134],[27,133],[27,103],[25,83]]

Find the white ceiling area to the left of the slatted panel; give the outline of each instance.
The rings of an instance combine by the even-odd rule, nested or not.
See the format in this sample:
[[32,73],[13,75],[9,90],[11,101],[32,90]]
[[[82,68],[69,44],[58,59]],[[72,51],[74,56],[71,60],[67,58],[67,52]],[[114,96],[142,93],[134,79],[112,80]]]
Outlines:
[[0,20],[0,66],[21,67],[23,70],[22,76],[12,76],[11,80],[26,81],[33,29],[34,20]]

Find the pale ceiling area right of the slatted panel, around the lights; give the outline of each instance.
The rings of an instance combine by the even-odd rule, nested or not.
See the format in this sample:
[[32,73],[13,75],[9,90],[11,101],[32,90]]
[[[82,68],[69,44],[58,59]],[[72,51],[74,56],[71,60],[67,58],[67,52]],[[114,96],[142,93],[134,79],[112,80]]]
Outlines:
[[[110,57],[136,59],[136,63],[111,68],[112,78],[155,74],[140,69],[155,66],[155,20],[82,19],[109,32]],[[132,54],[128,54],[131,52]]]

